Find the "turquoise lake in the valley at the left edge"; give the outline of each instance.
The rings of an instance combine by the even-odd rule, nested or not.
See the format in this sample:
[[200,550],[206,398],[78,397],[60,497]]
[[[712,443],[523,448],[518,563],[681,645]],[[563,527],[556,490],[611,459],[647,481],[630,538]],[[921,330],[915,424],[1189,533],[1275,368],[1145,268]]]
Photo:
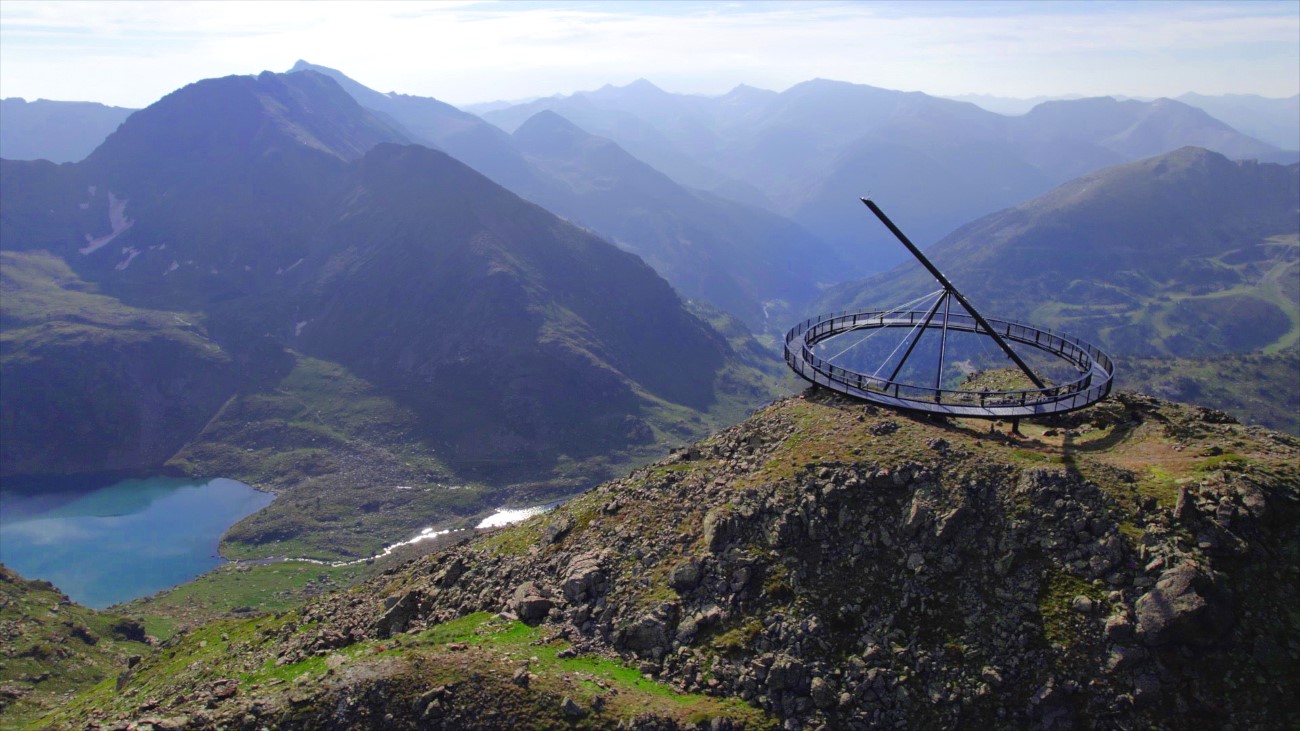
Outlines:
[[224,563],[221,535],[272,497],[224,477],[122,480],[75,493],[0,490],[0,563],[103,609]]

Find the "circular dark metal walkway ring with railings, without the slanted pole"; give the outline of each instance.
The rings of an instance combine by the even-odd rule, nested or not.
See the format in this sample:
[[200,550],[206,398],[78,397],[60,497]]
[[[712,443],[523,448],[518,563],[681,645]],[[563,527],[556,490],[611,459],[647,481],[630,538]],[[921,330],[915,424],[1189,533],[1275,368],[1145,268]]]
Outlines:
[[835,366],[815,352],[819,342],[849,332],[884,328],[945,328],[993,337],[970,315],[910,311],[864,311],[822,315],[796,325],[785,336],[785,362],[805,380],[863,401],[905,408],[983,419],[1018,419],[1065,414],[1101,401],[1110,393],[1114,364],[1100,349],[1070,336],[984,319],[1002,339],[1027,345],[1069,363],[1076,379],[1026,390],[959,390],[892,381]]

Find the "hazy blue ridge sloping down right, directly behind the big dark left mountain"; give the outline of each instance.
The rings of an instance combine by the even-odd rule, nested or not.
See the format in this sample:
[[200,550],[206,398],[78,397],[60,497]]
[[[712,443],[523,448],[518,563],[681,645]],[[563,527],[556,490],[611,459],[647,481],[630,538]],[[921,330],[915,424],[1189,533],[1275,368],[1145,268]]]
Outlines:
[[772,212],[688,189],[610,139],[554,113],[515,134],[437,99],[380,94],[326,74],[412,139],[447,151],[497,183],[642,256],[682,295],[776,337],[792,312],[848,264],[815,235]]

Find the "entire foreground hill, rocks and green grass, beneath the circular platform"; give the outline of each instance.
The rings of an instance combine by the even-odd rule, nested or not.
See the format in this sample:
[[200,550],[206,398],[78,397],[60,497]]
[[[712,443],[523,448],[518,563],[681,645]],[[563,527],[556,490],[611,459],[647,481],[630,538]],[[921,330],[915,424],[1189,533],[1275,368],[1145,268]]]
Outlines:
[[810,390],[46,722],[1294,727],[1300,441],[1131,393],[1022,429]]

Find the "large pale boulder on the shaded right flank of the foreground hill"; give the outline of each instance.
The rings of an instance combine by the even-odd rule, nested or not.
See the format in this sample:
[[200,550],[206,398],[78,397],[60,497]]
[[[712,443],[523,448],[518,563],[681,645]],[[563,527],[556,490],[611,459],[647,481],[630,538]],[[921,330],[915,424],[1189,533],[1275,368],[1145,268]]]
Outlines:
[[1213,576],[1184,562],[1161,574],[1135,606],[1138,636],[1148,645],[1208,645],[1232,626],[1227,597]]

